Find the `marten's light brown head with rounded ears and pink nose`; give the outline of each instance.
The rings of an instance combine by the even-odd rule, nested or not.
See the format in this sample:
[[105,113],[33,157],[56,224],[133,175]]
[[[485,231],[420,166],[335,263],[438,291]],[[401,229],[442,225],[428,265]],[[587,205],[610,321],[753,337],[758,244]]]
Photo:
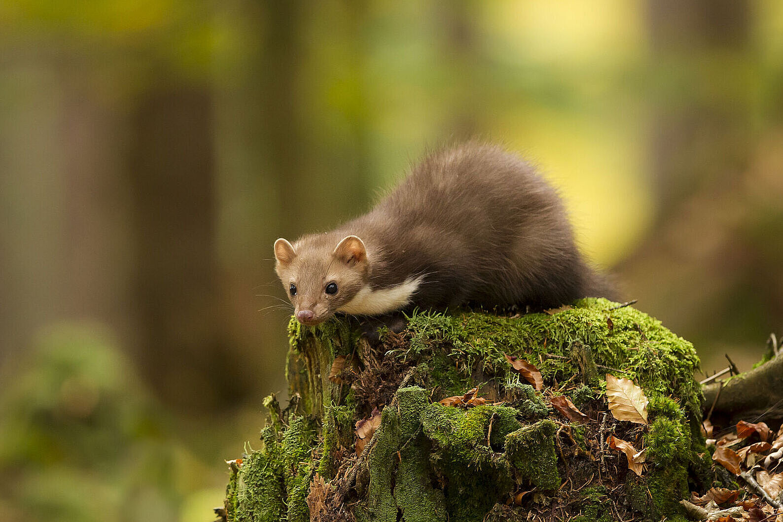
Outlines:
[[305,325],[329,319],[367,283],[367,250],[357,236],[345,236],[336,246],[329,234],[305,236],[293,245],[280,238],[275,259],[294,315]]

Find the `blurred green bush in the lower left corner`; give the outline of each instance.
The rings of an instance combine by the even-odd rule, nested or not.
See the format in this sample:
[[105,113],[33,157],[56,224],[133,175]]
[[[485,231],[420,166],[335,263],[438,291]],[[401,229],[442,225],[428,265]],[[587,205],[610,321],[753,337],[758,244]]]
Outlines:
[[11,519],[163,522],[177,517],[183,474],[204,488],[207,467],[92,326],[52,328],[26,355],[0,387],[0,506]]

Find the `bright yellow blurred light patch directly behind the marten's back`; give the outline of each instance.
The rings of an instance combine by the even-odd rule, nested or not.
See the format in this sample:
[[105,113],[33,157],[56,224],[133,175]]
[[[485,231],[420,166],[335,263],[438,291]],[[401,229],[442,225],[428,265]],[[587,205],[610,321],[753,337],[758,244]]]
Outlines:
[[564,197],[583,251],[600,265],[612,265],[632,250],[655,211],[640,174],[640,140],[622,121],[612,126],[553,112],[535,116],[531,111],[526,113],[535,125],[521,130],[519,119],[509,121],[503,135]]

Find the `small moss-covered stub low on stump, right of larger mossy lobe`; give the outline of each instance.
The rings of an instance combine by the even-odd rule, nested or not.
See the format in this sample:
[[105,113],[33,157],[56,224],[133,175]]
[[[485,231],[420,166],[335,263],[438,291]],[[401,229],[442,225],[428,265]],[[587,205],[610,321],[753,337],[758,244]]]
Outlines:
[[557,425],[549,419],[521,427],[506,437],[506,453],[525,480],[541,491],[560,487],[554,433]]

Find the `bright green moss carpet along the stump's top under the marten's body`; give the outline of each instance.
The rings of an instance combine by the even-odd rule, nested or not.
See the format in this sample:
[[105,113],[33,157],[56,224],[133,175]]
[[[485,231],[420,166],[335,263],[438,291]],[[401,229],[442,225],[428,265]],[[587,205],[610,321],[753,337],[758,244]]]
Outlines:
[[[615,376],[627,377],[645,391],[674,394],[687,412],[701,416],[693,345],[644,312],[614,306],[605,299],[583,299],[554,315],[520,318],[478,311],[417,312],[408,326],[410,347],[395,355],[414,362],[446,357],[449,369],[465,380],[477,371],[502,379],[510,371],[503,352],[535,364],[548,383],[572,379],[577,373],[579,381],[589,384],[592,366],[601,365],[618,369],[612,372]],[[589,360],[580,354],[589,355]],[[598,369],[601,375],[607,371]],[[448,374],[447,380],[456,379]]]

